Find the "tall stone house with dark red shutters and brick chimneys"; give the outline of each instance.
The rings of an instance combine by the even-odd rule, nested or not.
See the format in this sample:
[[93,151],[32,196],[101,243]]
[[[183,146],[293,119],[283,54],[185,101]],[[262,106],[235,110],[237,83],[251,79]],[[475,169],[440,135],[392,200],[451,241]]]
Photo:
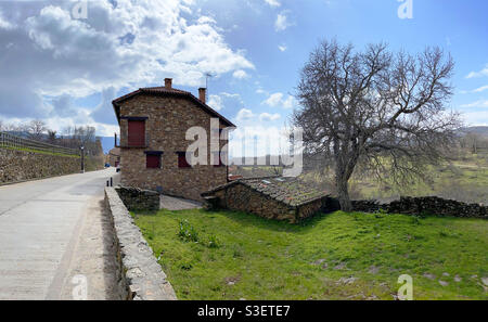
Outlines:
[[[202,192],[228,182],[227,155],[210,151],[210,119],[218,120],[220,149],[228,143],[222,129],[235,126],[205,98],[205,89],[197,99],[166,78],[164,87],[141,88],[112,102],[120,126],[120,184],[201,201]],[[206,165],[191,166],[185,157],[192,127],[207,131]]]

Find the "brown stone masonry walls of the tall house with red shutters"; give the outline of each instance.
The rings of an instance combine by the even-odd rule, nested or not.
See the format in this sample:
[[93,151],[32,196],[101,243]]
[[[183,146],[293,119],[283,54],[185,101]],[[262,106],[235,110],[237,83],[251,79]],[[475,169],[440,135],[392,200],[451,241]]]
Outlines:
[[[187,151],[192,141],[185,140],[185,132],[194,126],[207,131],[210,142],[210,115],[195,103],[172,96],[138,95],[120,106],[121,116],[147,117],[145,120],[149,146],[144,149],[120,149],[120,183],[128,186],[156,190],[164,193],[201,201],[201,193],[227,182],[227,167],[208,165],[193,168],[178,168],[177,152]],[[223,125],[220,125],[224,128]],[[127,145],[128,120],[120,119],[120,145]],[[227,141],[220,141],[223,146]],[[162,168],[146,169],[144,151],[163,151]]]

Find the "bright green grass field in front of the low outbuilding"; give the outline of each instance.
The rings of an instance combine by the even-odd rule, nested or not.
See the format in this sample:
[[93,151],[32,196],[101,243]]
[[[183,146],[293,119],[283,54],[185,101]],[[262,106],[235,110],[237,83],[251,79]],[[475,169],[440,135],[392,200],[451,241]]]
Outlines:
[[[292,226],[231,211],[133,216],[180,299],[393,299],[400,274],[412,275],[414,299],[488,299],[483,219],[336,211]],[[178,236],[180,223],[197,242]]]

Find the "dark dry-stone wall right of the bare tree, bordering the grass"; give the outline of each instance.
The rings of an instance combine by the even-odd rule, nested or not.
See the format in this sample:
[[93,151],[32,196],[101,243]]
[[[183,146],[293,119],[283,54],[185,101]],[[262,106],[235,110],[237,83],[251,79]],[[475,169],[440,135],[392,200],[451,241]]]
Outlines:
[[390,214],[488,219],[488,207],[484,205],[466,204],[437,196],[400,197],[399,201],[389,204],[380,204],[376,201],[354,201],[352,208],[355,211],[363,212],[384,209]]

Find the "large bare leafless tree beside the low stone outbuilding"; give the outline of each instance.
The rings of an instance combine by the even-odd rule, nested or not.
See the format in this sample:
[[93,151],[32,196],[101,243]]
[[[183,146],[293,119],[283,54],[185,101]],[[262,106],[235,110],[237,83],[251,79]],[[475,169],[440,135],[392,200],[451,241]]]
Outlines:
[[460,125],[445,111],[453,66],[438,48],[412,56],[383,43],[355,52],[323,41],[310,54],[293,120],[304,128],[306,152],[333,163],[344,210],[351,209],[348,181],[358,165],[400,183],[442,159]]

